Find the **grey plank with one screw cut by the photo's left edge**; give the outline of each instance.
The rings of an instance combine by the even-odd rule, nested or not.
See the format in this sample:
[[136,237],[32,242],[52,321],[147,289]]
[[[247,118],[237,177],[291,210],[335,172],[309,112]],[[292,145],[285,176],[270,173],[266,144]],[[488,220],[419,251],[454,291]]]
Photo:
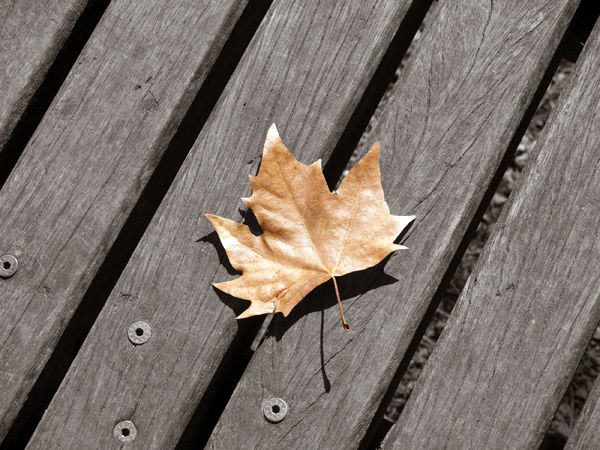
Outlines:
[[0,437],[245,4],[113,2],[0,191]]

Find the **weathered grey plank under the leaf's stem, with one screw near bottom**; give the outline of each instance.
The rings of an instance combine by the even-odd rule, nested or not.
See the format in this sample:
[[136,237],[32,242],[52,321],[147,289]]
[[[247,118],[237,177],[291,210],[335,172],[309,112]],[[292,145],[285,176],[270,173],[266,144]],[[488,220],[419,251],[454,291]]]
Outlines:
[[[358,446],[575,6],[554,0],[437,5],[412,65],[366,140],[368,146],[381,139],[391,211],[417,216],[405,237],[409,250],[340,280],[350,332],[339,324],[327,285],[288,318],[275,317],[211,448],[234,447],[241,428],[248,448]],[[260,411],[271,397],[289,405],[278,424]]]

